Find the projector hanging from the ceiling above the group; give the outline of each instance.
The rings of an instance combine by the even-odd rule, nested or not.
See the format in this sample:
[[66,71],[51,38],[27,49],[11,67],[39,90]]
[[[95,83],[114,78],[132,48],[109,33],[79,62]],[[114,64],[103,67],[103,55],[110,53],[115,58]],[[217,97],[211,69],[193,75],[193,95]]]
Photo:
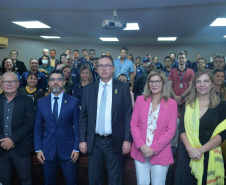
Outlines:
[[106,19],[102,22],[102,27],[106,30],[123,30],[126,28],[126,23],[117,21],[117,10],[113,10],[113,20]]

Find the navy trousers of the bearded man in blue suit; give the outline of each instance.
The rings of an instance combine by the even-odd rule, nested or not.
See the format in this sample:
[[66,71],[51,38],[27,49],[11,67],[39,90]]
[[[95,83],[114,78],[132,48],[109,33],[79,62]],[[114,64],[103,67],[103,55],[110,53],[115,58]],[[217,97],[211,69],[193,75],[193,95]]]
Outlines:
[[52,161],[45,161],[42,166],[45,177],[45,185],[56,185],[58,165],[60,165],[62,168],[66,184],[76,185],[77,162],[73,163],[71,160],[61,160],[57,151],[54,159]]

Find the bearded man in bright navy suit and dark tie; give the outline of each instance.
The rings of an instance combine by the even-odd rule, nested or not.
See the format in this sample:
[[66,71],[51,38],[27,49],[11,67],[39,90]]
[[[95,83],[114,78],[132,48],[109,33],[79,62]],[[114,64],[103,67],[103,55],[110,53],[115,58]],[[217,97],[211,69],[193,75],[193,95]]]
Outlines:
[[43,164],[45,184],[56,184],[58,164],[67,185],[76,184],[79,105],[76,98],[63,93],[64,84],[63,72],[51,71],[51,94],[38,100],[34,145],[37,158]]

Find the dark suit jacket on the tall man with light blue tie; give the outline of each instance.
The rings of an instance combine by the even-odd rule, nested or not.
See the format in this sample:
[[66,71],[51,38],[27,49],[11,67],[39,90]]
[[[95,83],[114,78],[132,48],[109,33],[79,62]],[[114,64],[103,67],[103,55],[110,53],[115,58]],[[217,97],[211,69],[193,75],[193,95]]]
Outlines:
[[[97,115],[99,81],[83,89],[82,109],[79,119],[80,142],[87,142],[87,151],[92,151]],[[132,102],[129,85],[119,80],[112,82],[112,139],[115,152],[122,151],[123,141],[131,141],[130,119]]]

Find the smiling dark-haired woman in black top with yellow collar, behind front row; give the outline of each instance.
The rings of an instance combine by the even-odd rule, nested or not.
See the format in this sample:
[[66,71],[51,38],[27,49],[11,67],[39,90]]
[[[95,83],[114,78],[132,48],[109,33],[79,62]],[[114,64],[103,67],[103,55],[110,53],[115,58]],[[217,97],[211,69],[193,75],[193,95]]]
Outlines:
[[19,93],[29,96],[34,102],[34,106],[37,106],[37,100],[44,97],[44,93],[36,88],[38,83],[38,76],[36,73],[30,73],[27,77],[27,86],[19,88]]

